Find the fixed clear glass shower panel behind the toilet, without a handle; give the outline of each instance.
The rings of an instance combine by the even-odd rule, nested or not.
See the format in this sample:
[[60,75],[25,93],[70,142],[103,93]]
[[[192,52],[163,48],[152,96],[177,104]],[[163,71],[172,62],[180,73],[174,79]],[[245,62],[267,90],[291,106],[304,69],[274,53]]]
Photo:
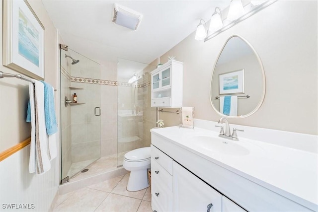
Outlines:
[[117,60],[117,166],[126,152],[150,146],[150,129],[156,127],[156,108],[151,107],[151,74],[155,66]]

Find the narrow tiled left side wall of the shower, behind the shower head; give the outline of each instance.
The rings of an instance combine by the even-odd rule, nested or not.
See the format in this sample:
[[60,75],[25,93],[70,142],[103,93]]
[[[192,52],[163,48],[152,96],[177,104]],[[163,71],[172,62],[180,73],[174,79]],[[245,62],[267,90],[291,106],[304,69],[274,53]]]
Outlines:
[[62,179],[67,176],[67,173],[72,164],[72,141],[71,141],[71,107],[64,106],[64,97],[71,96],[69,86],[71,86],[71,64],[67,63],[62,51],[61,57],[61,135],[62,135]]

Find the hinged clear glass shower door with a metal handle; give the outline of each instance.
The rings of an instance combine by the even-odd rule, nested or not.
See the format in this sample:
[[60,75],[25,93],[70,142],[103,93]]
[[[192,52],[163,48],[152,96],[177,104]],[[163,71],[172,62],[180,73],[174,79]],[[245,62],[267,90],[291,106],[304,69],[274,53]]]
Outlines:
[[63,183],[100,158],[100,65],[60,48],[60,71]]

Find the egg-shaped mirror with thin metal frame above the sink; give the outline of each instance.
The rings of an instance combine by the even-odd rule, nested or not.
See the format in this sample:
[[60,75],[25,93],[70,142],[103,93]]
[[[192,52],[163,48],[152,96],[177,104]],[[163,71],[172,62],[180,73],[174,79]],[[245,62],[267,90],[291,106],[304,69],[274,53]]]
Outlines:
[[213,70],[212,107],[222,116],[243,118],[258,110],[264,96],[265,74],[257,53],[243,38],[230,37]]

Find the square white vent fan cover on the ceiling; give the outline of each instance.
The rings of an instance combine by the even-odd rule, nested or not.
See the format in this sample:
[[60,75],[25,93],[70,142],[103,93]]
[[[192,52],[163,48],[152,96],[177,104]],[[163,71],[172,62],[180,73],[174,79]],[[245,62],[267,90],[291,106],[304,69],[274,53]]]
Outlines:
[[143,15],[122,5],[115,3],[113,22],[115,24],[136,30]]

